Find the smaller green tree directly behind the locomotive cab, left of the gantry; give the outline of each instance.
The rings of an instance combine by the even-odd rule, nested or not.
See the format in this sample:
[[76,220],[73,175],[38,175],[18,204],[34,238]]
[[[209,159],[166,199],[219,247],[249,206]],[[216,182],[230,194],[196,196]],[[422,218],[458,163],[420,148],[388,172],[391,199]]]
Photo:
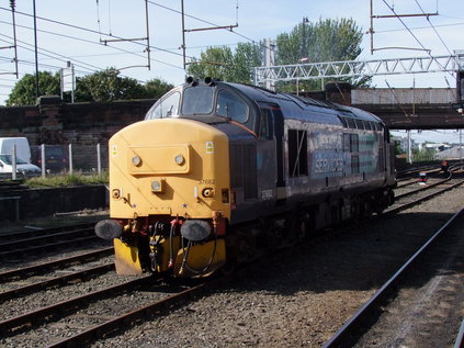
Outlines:
[[192,59],[188,74],[194,78],[218,78],[239,83],[251,83],[252,67],[261,65],[261,48],[251,43],[239,43],[235,52],[230,47],[208,47]]

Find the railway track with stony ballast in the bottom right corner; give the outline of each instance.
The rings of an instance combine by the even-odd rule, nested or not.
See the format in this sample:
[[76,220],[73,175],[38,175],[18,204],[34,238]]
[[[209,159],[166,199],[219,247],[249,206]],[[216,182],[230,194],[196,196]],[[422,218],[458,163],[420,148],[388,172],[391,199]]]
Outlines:
[[[450,337],[442,337],[446,335],[446,332],[439,329],[441,326],[440,321],[437,322],[437,318],[434,321],[430,319],[430,317],[433,316],[433,312],[437,312],[437,307],[440,306],[440,304],[433,302],[432,295],[433,291],[443,291],[440,290],[443,285],[445,288],[444,291],[451,292],[450,283],[443,281],[443,277],[449,276],[446,274],[446,270],[457,267],[461,269],[462,274],[463,260],[461,251],[464,246],[464,238],[461,232],[463,228],[464,209],[454,214],[403,267],[400,267],[399,270],[336,333],[336,335],[324,345],[324,347],[352,347],[354,345],[365,347],[373,343],[378,346],[406,345],[410,347],[420,347],[425,345],[429,346],[431,343],[432,346],[448,346]],[[444,238],[448,240],[443,243]],[[440,247],[438,247],[439,243],[442,244],[441,250]],[[443,248],[445,252],[443,252]],[[440,259],[440,257],[442,259]],[[422,285],[427,282],[427,279],[423,280],[423,273],[426,270],[430,272],[431,265],[433,266],[433,270],[438,269],[437,272],[439,277],[432,280],[431,284],[419,287],[418,282]],[[433,277],[433,274],[430,273],[427,273],[427,276],[430,278]],[[441,281],[443,283],[439,284]],[[464,300],[461,287],[462,283],[459,282],[457,299],[454,300],[454,302],[450,300],[450,302],[445,304],[446,306],[451,306],[451,312],[454,311],[453,305],[462,303]],[[414,301],[411,301],[414,302],[412,306],[404,305],[406,300],[403,296],[397,300],[397,302],[401,302],[403,310],[406,311],[406,313],[398,313],[397,308],[391,308],[392,299],[400,296],[401,292],[406,292],[405,289],[408,288],[412,289],[409,290],[408,294],[409,301],[414,299]],[[425,288],[427,290],[425,290]],[[388,313],[391,313],[389,317],[394,316],[397,319],[382,321],[381,317],[383,315],[388,316]],[[439,317],[443,319],[448,315],[450,314],[440,313]],[[417,323],[421,317],[422,321]],[[405,318],[409,321],[405,323]],[[455,326],[459,328],[461,324],[459,314],[455,314],[454,318],[456,319]],[[392,322],[396,326],[391,328],[387,327],[386,325],[388,325],[388,323],[392,324]],[[372,334],[367,335],[366,338],[361,338],[367,330]],[[382,335],[378,333],[385,332],[387,333],[387,337],[382,338]],[[417,332],[419,332],[419,334],[417,334]],[[441,335],[440,338],[438,338],[439,335]],[[459,346],[455,347],[461,347],[460,341],[462,343],[462,330],[460,330],[456,337],[456,344]]]

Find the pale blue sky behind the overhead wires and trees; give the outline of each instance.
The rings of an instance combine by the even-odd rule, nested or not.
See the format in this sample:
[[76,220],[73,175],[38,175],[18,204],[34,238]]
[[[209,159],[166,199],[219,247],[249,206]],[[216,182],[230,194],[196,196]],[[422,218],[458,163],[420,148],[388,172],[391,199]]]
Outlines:
[[[34,74],[33,2],[15,0],[19,77]],[[371,25],[370,0],[183,0],[185,29],[235,25],[229,30],[185,33],[188,61],[199,57],[208,46],[275,38],[307,18],[352,18],[366,33]],[[425,50],[384,49],[409,47],[430,49],[432,56],[451,55],[464,49],[463,0],[372,0],[374,15],[439,13],[438,15],[374,19],[374,54],[370,35],[365,34],[359,59],[426,57]],[[38,69],[58,71],[67,61],[77,76],[84,76],[107,67],[121,70],[122,76],[140,82],[160,78],[173,85],[183,82],[181,0],[148,0],[150,69],[145,50],[147,37],[145,0],[35,0],[37,15]],[[430,23],[433,25],[430,25]],[[414,36],[412,36],[412,34]],[[110,36],[110,34],[112,36]],[[106,42],[114,38],[135,38],[132,42]],[[13,26],[10,1],[0,4],[0,105],[4,104],[18,81],[14,72]],[[452,74],[400,75],[377,77],[376,87],[395,88],[455,87]],[[457,132],[422,132],[414,137],[459,142]],[[404,135],[404,134],[403,134]]]

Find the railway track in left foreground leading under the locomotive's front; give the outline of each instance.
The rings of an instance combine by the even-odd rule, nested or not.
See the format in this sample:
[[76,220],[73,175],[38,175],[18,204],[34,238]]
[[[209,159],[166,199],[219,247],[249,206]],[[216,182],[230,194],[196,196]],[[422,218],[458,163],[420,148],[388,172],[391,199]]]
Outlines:
[[[60,327],[60,333],[48,335],[42,344],[46,347],[78,347],[122,327],[127,329],[163,308],[179,305],[197,294],[205,284],[216,281],[191,281],[188,285],[177,285],[165,283],[155,276],[145,276],[1,321],[0,333],[8,340],[5,337],[15,335],[38,337],[43,330],[52,333]],[[136,304],[127,305],[127,298],[134,298]],[[122,302],[125,302],[125,308],[115,305]],[[116,310],[110,315],[102,315],[100,311],[92,310],[92,305]],[[70,321],[79,324],[69,327],[65,323]]]

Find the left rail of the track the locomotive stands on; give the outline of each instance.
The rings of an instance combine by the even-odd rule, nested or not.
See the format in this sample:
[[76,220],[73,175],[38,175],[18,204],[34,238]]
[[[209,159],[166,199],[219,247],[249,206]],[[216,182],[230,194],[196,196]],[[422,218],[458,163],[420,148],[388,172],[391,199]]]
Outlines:
[[4,337],[11,334],[14,328],[20,328],[24,325],[43,324],[43,319],[50,319],[53,317],[61,316],[64,313],[69,313],[87,305],[90,302],[106,298],[114,292],[121,293],[139,289],[143,285],[152,283],[156,280],[154,276],[138,278],[124,282],[122,284],[113,285],[103,290],[98,290],[81,296],[72,298],[70,300],[61,301],[59,303],[42,307],[15,317],[0,322],[0,334]]

